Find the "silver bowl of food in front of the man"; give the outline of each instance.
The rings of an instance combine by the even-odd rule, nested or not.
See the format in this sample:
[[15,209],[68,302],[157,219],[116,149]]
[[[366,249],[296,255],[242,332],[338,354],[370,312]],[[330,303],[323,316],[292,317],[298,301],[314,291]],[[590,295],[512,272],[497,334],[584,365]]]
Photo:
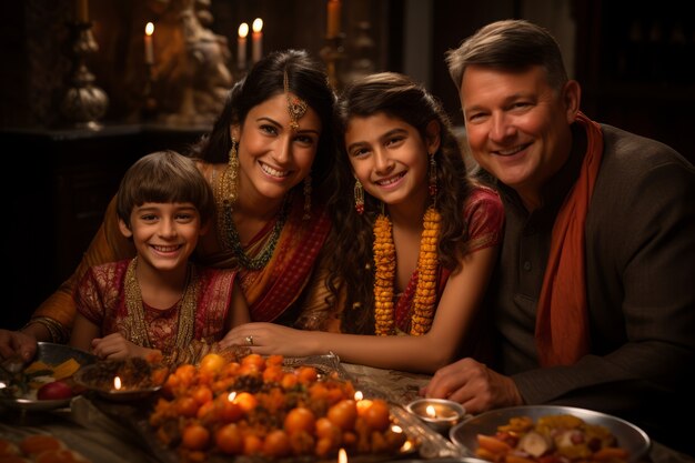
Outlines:
[[[634,463],[651,447],[649,436],[617,416],[561,405],[492,410],[452,427],[452,442],[467,456],[503,461],[611,460]],[[502,460],[501,460],[502,459]]]

